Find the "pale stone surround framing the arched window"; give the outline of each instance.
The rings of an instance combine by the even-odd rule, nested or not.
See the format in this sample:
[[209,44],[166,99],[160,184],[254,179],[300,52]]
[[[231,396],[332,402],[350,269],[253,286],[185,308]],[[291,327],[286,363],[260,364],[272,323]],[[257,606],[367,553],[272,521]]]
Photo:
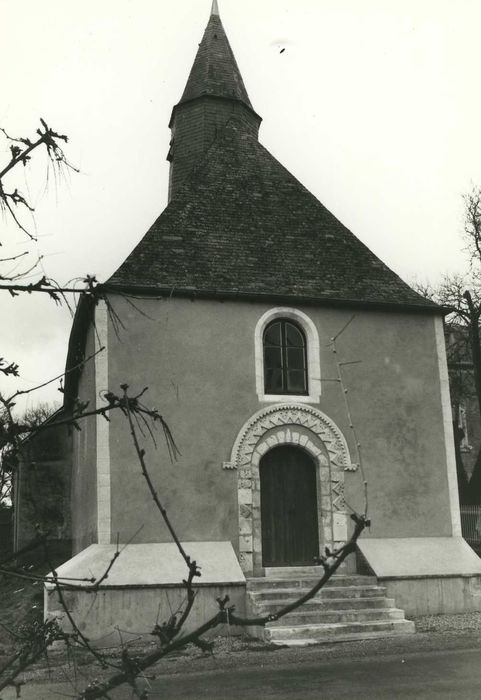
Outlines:
[[[295,321],[304,331],[307,342],[307,388],[308,394],[266,394],[264,392],[264,347],[263,336],[267,325],[276,318],[289,318]],[[256,392],[259,401],[280,401],[283,396],[299,403],[318,403],[321,396],[321,363],[319,334],[312,320],[303,311],[288,306],[277,306],[269,309],[257,322],[255,333],[255,370]]]

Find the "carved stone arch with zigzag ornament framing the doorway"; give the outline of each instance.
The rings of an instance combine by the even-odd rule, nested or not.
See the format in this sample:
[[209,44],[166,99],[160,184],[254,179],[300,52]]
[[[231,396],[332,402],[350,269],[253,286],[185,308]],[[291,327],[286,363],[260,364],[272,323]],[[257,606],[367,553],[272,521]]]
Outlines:
[[278,445],[297,445],[317,465],[319,541],[338,545],[347,539],[344,472],[351,463],[346,440],[324,413],[303,404],[277,404],[258,411],[244,425],[225,469],[237,469],[240,563],[246,574],[262,568],[259,463]]

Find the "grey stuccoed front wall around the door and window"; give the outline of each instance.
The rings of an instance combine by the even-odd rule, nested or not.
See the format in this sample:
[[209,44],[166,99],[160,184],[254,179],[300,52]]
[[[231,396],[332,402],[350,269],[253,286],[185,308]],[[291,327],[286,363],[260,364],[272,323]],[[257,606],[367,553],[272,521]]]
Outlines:
[[[126,327],[118,339],[109,326],[109,388],[130,393],[149,387],[144,402],[167,420],[180,457],[169,460],[162,437],[147,437],[147,463],[182,540],[229,538],[238,546],[237,472],[222,469],[246,420],[260,404],[255,387],[254,329],[273,305],[170,298],[111,302]],[[316,324],[321,376],[336,376],[329,339],[350,310],[297,306]],[[140,311],[143,312],[140,313]],[[372,527],[366,537],[451,535],[434,317],[356,311],[338,340],[352,415],[369,483]],[[83,391],[90,375],[83,378]],[[347,438],[356,461],[339,385],[325,382],[319,403]],[[279,397],[279,402],[289,400]],[[89,433],[89,440],[91,433]],[[126,420],[110,423],[112,537],[168,541],[140,474]],[[92,444],[90,442],[90,444]],[[91,456],[91,448],[87,451]],[[94,481],[86,467],[81,493]],[[347,502],[363,507],[359,472],[346,472]],[[89,491],[90,493],[90,491]],[[77,503],[82,498],[77,494]],[[93,501],[91,501],[93,502]],[[89,514],[90,522],[92,520]],[[89,525],[82,526],[84,535]]]

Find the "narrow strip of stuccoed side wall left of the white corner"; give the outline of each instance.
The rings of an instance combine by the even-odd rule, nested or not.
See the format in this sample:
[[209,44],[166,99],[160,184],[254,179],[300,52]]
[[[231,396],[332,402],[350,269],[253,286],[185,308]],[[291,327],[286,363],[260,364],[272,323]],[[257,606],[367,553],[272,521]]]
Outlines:
[[[85,357],[94,352],[94,330],[89,328]],[[95,362],[82,368],[78,396],[88,401],[87,410],[95,408]],[[80,422],[81,430],[73,430],[72,459],[72,548],[74,554],[97,541],[97,476],[95,416]]]

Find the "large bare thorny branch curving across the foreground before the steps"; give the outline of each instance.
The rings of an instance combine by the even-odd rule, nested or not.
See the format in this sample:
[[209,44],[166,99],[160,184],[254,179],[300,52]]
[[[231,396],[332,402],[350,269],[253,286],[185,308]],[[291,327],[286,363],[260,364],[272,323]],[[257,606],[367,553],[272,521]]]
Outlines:
[[[344,329],[343,329],[344,330]],[[342,332],[342,331],[341,331]],[[338,336],[340,333],[338,334]],[[335,338],[332,339],[332,349],[335,354],[336,347],[335,347],[335,341],[337,339],[336,336]],[[348,411],[348,417],[349,417],[349,424],[351,426],[351,429],[353,428],[352,424],[352,416],[350,414],[350,408],[349,408],[349,403],[348,403],[348,398],[347,398],[347,391],[346,387],[343,383],[343,378],[342,378],[342,365],[345,363],[339,362],[336,358],[336,366],[337,366],[337,371],[338,371],[338,379],[341,390],[343,391],[344,398],[346,401],[346,410]],[[301,596],[298,600],[296,600],[294,603],[290,603],[289,605],[283,606],[279,610],[277,610],[275,613],[271,613],[269,615],[261,616],[261,617],[253,617],[253,618],[247,618],[247,617],[241,617],[236,614],[235,607],[234,606],[229,606],[228,602],[229,599],[226,596],[224,599],[219,599],[218,600],[218,606],[219,610],[216,615],[214,615],[212,618],[207,620],[204,624],[202,624],[200,627],[198,627],[196,630],[182,635],[182,629],[189,617],[189,614],[193,608],[194,601],[195,601],[195,588],[194,588],[194,579],[198,576],[201,575],[200,569],[195,561],[193,561],[190,556],[185,552],[177,534],[175,531],[175,528],[165,510],[165,508],[162,505],[162,502],[159,498],[159,495],[154,487],[153,481],[150,477],[148,468],[147,468],[147,462],[146,462],[146,454],[145,450],[141,447],[140,441],[138,438],[138,432],[141,432],[142,435],[145,436],[144,430],[146,429],[148,433],[151,435],[153,438],[153,432],[150,426],[150,422],[159,423],[162,426],[162,429],[164,431],[164,436],[167,442],[167,446],[169,449],[169,454],[171,456],[171,459],[175,459],[177,455],[177,448],[175,446],[175,442],[172,438],[172,435],[170,433],[170,430],[168,428],[168,425],[166,422],[163,420],[162,416],[159,414],[157,410],[152,410],[148,409],[142,402],[141,399],[143,395],[145,394],[146,389],[141,391],[135,396],[129,396],[128,394],[128,385],[123,384],[121,386],[122,389],[122,395],[118,396],[114,394],[113,392],[107,391],[104,394],[104,399],[106,400],[106,405],[95,410],[89,411],[87,408],[86,404],[77,404],[76,410],[74,410],[73,415],[71,416],[70,419],[66,419],[65,421],[61,421],[60,424],[65,424],[65,423],[71,423],[74,425],[77,429],[80,429],[80,426],[78,424],[78,420],[81,418],[84,418],[88,415],[103,415],[103,417],[106,420],[109,420],[108,414],[110,411],[116,409],[120,410],[124,416],[126,417],[130,429],[130,433],[132,436],[133,444],[135,447],[135,452],[138,458],[138,462],[141,468],[141,473],[144,476],[144,479],[146,480],[147,486],[149,488],[149,491],[151,493],[151,496],[156,504],[156,507],[164,520],[165,524],[167,525],[171,536],[174,540],[174,542],[177,545],[177,548],[179,550],[179,553],[181,554],[182,558],[184,559],[184,562],[187,567],[188,571],[188,576],[187,578],[183,581],[183,585],[186,589],[186,600],[187,603],[185,605],[184,610],[178,611],[176,614],[173,614],[171,618],[167,621],[165,621],[163,624],[158,625],[155,624],[153,627],[151,634],[153,637],[157,638],[159,648],[149,654],[145,654],[144,656],[141,657],[136,657],[133,658],[130,656],[128,650],[126,647],[123,648],[122,653],[120,655],[120,658],[118,659],[117,663],[111,663],[108,662],[101,652],[96,650],[93,646],[91,641],[78,629],[74,616],[71,614],[71,612],[68,609],[67,601],[65,600],[64,592],[69,591],[69,590],[82,590],[86,593],[88,592],[97,592],[100,588],[101,583],[107,578],[109,572],[111,571],[112,567],[114,566],[114,563],[119,556],[120,552],[117,547],[117,550],[115,552],[115,556],[109,563],[107,570],[104,572],[104,574],[98,579],[90,579],[89,583],[90,586],[81,586],[79,585],[80,582],[74,582],[72,580],[64,580],[58,577],[58,574],[53,566],[51,566],[51,573],[48,577],[35,577],[36,580],[43,580],[44,583],[48,583],[51,586],[54,587],[55,591],[57,592],[58,600],[61,605],[61,608],[64,610],[65,615],[70,623],[71,632],[66,632],[65,630],[60,629],[58,623],[56,620],[50,620],[47,621],[46,623],[43,624],[43,626],[38,627],[36,633],[31,636],[31,639],[35,639],[35,644],[32,646],[31,641],[27,642],[26,640],[21,640],[22,643],[20,645],[20,651],[13,657],[13,659],[10,660],[9,664],[7,664],[6,667],[4,667],[4,671],[7,672],[6,678],[3,681],[3,683],[0,684],[0,690],[1,688],[5,687],[6,685],[12,685],[16,683],[16,679],[18,675],[25,670],[28,665],[33,663],[34,660],[37,660],[40,658],[43,654],[46,653],[46,650],[48,647],[51,645],[52,641],[61,639],[67,646],[67,649],[72,649],[72,648],[80,648],[83,650],[88,651],[89,653],[92,654],[92,656],[95,658],[95,660],[100,663],[104,668],[110,667],[115,669],[116,673],[113,675],[111,678],[109,678],[107,681],[103,683],[99,682],[93,682],[85,690],[77,696],[78,698],[82,698],[83,700],[90,700],[91,698],[100,698],[100,697],[109,697],[108,692],[110,690],[113,690],[117,688],[118,686],[128,683],[134,693],[138,697],[147,697],[147,691],[142,690],[140,691],[137,685],[137,680],[139,678],[139,675],[142,674],[144,670],[152,666],[154,663],[162,659],[163,657],[167,656],[169,653],[181,649],[185,647],[187,644],[193,643],[199,646],[203,650],[211,650],[211,643],[205,641],[202,637],[203,635],[217,627],[218,625],[221,624],[233,624],[239,627],[247,627],[247,626],[263,626],[268,622],[272,622],[275,620],[280,619],[284,615],[288,614],[289,612],[292,612],[293,610],[297,609],[301,605],[303,605],[306,601],[310,600],[313,596],[315,596],[319,590],[328,582],[328,580],[331,578],[331,576],[337,571],[339,566],[342,564],[342,562],[345,560],[345,558],[355,550],[356,548],[356,542],[357,539],[359,538],[360,534],[364,530],[366,526],[369,525],[369,521],[367,519],[367,496],[366,496],[366,502],[365,502],[365,512],[364,515],[358,515],[357,513],[353,513],[351,518],[354,522],[354,529],[352,532],[351,537],[349,540],[341,547],[338,549],[335,549],[334,551],[329,550],[326,548],[325,554],[320,557],[319,563],[322,564],[324,568],[324,574],[323,576],[319,579],[319,581],[312,587],[312,589],[306,593],[305,595]],[[52,427],[56,427],[58,424],[52,424]],[[355,433],[354,433],[355,434]],[[18,436],[14,436],[15,438],[18,438]],[[360,455],[360,443],[357,441],[357,436],[356,437],[356,447],[358,448],[358,456],[359,456],[359,461],[360,463],[362,462],[361,455]],[[363,477],[364,478],[364,477]],[[364,487],[366,488],[366,482],[364,481]],[[44,545],[46,547],[46,545]],[[46,549],[46,557],[48,560],[48,550]],[[3,568],[3,567],[2,567]],[[19,575],[21,572],[18,570],[15,570],[14,567],[9,567],[7,570],[3,569],[5,573],[9,573],[10,575]],[[28,575],[26,576],[28,578]],[[33,577],[32,577],[33,578]]]

